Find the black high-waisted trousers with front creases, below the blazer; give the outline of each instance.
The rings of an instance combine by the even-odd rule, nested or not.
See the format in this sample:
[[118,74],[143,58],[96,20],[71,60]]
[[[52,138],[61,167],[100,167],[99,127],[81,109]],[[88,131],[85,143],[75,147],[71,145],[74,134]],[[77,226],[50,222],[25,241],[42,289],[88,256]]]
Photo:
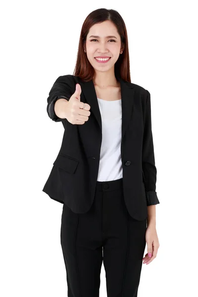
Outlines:
[[137,297],[146,246],[147,219],[133,219],[124,202],[122,179],[97,182],[86,213],[63,204],[61,247],[68,297],[99,297],[103,260],[107,297]]

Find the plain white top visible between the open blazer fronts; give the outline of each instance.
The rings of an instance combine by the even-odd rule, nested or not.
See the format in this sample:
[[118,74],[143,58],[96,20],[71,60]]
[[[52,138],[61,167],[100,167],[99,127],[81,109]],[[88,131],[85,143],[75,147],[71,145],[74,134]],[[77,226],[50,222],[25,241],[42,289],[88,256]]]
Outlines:
[[102,143],[100,149],[97,181],[112,181],[122,178],[121,133],[122,102],[98,98],[102,121]]

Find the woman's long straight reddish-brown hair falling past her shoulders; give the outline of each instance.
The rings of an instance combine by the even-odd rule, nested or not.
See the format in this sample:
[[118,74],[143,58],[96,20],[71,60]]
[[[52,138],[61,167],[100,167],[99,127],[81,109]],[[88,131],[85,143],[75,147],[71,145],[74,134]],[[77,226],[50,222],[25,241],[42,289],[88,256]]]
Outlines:
[[122,78],[131,83],[127,29],[121,15],[114,9],[99,8],[92,11],[86,17],[81,29],[77,60],[73,75],[80,77],[86,82],[94,78],[95,70],[87,58],[87,54],[84,51],[84,45],[90,28],[105,20],[110,20],[115,24],[121,38],[121,46],[124,45],[123,53],[120,54],[114,66],[115,77]]

